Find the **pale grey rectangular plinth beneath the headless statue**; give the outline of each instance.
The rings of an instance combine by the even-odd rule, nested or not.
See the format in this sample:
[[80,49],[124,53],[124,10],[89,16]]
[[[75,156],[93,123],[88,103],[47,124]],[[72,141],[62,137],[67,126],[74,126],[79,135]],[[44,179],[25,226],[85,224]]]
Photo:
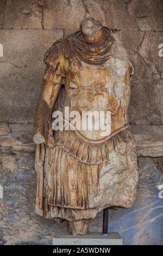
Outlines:
[[57,231],[53,245],[123,245],[123,239],[118,232],[88,232],[86,235],[72,235],[70,232]]

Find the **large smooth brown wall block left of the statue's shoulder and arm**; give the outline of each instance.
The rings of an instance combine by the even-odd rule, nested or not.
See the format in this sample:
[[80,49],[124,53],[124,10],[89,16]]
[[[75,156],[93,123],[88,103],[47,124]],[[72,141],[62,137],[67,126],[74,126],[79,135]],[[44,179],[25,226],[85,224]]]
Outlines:
[[35,106],[45,71],[43,57],[53,42],[62,38],[61,30],[2,29],[0,57],[1,121],[28,123]]

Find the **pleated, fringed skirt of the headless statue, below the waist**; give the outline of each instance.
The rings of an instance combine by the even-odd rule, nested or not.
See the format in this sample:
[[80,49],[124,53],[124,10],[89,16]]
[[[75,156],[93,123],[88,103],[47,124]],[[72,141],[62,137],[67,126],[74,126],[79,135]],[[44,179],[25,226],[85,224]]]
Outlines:
[[[36,212],[54,220],[94,218],[109,206],[130,208],[138,181],[135,141],[129,128],[99,145],[73,131],[37,145]],[[63,133],[63,132],[62,132]]]

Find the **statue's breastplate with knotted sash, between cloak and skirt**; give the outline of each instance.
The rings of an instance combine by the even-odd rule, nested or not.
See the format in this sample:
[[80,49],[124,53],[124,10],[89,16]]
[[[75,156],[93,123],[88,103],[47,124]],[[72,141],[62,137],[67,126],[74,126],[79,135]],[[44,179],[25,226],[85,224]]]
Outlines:
[[[119,65],[121,76],[118,71],[114,72],[114,66]],[[83,64],[80,69],[77,62],[72,62],[71,70],[66,70],[65,91],[67,100],[65,106],[70,107],[70,112],[78,111],[110,111],[111,133],[128,124],[126,95],[130,95],[128,63],[110,57],[105,64],[105,69],[91,69],[91,65]],[[123,72],[122,72],[123,70]],[[82,121],[82,120],[81,120]],[[101,140],[102,130],[78,131],[86,139]],[[107,137],[107,136],[106,136]]]

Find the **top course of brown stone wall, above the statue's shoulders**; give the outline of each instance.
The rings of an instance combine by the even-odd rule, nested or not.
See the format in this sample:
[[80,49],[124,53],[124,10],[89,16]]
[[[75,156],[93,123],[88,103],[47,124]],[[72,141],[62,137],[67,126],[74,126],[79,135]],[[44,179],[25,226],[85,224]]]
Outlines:
[[84,17],[131,31],[162,31],[161,0],[2,0],[2,28],[78,29]]

